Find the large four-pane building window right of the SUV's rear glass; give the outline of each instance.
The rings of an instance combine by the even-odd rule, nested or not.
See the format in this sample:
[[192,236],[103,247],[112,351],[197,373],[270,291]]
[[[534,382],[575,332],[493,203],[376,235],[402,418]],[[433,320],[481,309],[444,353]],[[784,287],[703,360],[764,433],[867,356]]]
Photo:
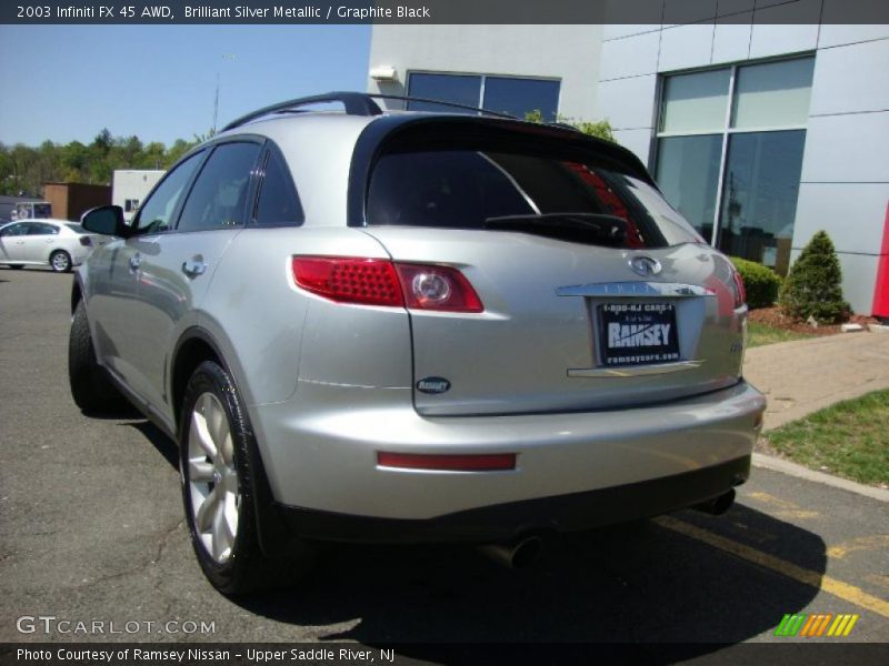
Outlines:
[[790,262],[813,67],[797,58],[663,82],[657,174],[667,200],[720,250],[779,274]]

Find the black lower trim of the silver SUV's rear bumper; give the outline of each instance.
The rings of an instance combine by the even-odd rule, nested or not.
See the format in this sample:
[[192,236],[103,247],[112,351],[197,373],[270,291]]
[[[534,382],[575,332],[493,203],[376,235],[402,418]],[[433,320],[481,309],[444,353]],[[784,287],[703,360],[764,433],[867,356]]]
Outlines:
[[353,543],[497,543],[545,532],[577,532],[670,513],[747,481],[750,456],[633,484],[526,500],[424,521],[374,518],[277,505],[294,536]]

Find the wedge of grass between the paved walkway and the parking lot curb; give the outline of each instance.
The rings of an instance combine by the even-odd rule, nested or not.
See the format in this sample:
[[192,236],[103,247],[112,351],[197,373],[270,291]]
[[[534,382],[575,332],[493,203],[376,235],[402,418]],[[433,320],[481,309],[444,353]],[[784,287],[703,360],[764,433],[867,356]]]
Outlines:
[[786,457],[871,485],[889,484],[889,391],[837,403],[768,433]]

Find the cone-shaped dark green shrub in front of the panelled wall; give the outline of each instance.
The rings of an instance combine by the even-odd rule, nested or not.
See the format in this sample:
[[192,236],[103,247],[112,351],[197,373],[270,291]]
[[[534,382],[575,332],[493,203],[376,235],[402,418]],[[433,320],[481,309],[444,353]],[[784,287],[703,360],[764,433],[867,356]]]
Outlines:
[[842,299],[840,261],[830,236],[819,231],[790,266],[780,294],[781,306],[801,320],[815,317],[835,324],[849,319],[851,307]]

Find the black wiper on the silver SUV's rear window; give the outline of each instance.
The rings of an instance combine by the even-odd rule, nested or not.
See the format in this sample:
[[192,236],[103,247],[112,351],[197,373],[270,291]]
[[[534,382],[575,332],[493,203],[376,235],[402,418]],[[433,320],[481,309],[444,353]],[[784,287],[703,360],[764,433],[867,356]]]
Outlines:
[[523,231],[558,241],[622,248],[627,221],[603,213],[542,213],[501,215],[485,220],[486,230]]

